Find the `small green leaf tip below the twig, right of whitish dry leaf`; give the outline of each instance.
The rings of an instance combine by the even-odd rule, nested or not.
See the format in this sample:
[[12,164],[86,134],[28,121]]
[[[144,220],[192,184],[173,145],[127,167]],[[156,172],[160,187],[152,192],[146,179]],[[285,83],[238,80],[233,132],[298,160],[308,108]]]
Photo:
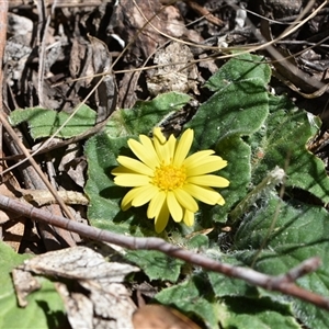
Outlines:
[[127,251],[125,258],[144,270],[149,280],[177,282],[183,261],[156,250]]

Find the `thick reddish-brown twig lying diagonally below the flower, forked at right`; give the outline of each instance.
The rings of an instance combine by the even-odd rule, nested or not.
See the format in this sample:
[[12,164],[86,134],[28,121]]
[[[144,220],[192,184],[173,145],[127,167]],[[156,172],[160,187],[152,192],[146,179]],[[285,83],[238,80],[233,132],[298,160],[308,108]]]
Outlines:
[[201,253],[194,253],[190,250],[170,245],[160,238],[127,237],[107,230],[101,230],[95,227],[90,227],[78,222],[68,220],[67,218],[55,216],[50,213],[11,200],[3,195],[0,195],[0,208],[3,211],[14,212],[37,222],[47,223],[72,232],[77,232],[81,237],[93,240],[114,243],[132,250],[158,250],[168,256],[202,266],[205,270],[222,273],[230,277],[241,279],[251,285],[260,286],[269,291],[281,292],[285,295],[297,297],[329,310],[329,298],[306,291],[292,282],[295,277],[299,277],[303,274],[315,271],[320,264],[320,260],[318,258],[311,258],[306,262],[303,262],[284,275],[270,276],[252,269],[220,263]]

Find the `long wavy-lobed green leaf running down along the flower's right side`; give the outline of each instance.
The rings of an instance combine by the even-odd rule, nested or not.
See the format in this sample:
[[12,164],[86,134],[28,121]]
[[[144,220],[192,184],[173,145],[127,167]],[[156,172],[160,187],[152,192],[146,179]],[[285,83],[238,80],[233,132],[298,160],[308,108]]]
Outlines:
[[[251,55],[241,59],[260,60]],[[186,125],[195,132],[193,151],[215,148],[228,161],[227,169],[220,171],[230,181],[229,189],[220,191],[226,204],[212,209],[201,204],[202,226],[211,226],[212,220],[225,223],[231,206],[246,195],[251,175],[251,148],[242,137],[261,129],[269,115],[269,66],[245,60],[228,61],[209,79],[205,86],[216,93]],[[207,218],[212,218],[211,223]]]

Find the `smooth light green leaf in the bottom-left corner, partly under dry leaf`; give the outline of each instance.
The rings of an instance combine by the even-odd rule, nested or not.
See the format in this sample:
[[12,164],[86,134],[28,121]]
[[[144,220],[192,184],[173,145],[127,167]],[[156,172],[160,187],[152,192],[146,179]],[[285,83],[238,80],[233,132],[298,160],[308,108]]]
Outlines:
[[18,306],[11,271],[30,256],[16,254],[0,242],[0,328],[64,328],[66,316],[63,302],[53,282],[39,277],[42,288],[27,296],[27,306]]

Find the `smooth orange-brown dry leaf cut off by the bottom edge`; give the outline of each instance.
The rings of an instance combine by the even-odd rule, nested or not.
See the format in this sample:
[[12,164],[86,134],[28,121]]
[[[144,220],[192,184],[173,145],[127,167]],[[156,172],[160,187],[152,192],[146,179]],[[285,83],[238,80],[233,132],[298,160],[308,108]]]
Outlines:
[[135,329],[200,329],[188,317],[163,305],[146,305],[133,315]]

